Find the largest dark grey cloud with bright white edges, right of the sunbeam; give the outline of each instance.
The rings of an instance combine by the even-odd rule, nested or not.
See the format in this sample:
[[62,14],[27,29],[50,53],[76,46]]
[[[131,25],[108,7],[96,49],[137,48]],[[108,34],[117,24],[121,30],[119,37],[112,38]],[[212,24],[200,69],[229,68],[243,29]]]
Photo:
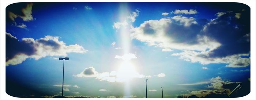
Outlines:
[[235,16],[237,14],[229,11],[219,12],[217,18],[211,20],[185,16],[147,20],[139,27],[132,27],[131,37],[148,46],[161,47],[162,51],[182,50],[171,55],[185,61],[246,67],[250,65],[250,58],[247,58],[250,53],[250,21],[242,13],[249,12],[239,13],[239,19]]

